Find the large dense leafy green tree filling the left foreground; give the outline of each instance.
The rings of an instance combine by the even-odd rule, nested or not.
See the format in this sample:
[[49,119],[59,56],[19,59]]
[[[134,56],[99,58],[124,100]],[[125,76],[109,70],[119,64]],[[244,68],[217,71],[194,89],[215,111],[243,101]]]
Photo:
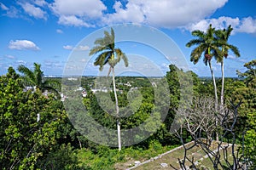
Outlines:
[[45,98],[38,89],[23,92],[20,81],[12,67],[0,77],[1,169],[36,169],[38,159],[58,145],[67,120],[53,95]]

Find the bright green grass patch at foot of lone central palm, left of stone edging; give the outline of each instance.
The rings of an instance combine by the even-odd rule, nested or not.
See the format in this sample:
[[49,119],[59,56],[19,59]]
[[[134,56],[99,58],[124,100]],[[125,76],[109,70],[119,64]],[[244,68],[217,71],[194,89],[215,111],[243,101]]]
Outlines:
[[107,146],[99,146],[97,154],[87,149],[78,150],[78,157],[82,164],[80,166],[86,167],[86,169],[121,170],[134,166],[134,161],[146,161],[175,147],[177,145],[162,146],[158,141],[152,141],[148,150],[131,146],[119,151],[118,149],[109,149]]

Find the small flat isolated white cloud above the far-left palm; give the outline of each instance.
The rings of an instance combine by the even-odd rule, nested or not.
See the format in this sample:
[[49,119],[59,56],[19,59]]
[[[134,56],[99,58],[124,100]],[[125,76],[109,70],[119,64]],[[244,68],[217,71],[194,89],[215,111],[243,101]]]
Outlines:
[[32,50],[39,50],[38,46],[31,41],[28,40],[11,40],[9,42],[10,49],[32,49]]

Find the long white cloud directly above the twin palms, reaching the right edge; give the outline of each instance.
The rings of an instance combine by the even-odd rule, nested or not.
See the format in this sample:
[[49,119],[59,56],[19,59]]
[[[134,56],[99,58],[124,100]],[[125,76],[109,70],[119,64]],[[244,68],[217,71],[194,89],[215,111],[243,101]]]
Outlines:
[[219,17],[218,19],[206,19],[200,20],[199,22],[189,24],[185,26],[185,29],[189,31],[201,30],[207,31],[208,26],[212,24],[216,29],[224,29],[228,26],[232,26],[234,31],[236,32],[246,32],[246,33],[256,33],[256,19],[254,20],[252,17],[247,17],[243,19],[231,18],[231,17]]

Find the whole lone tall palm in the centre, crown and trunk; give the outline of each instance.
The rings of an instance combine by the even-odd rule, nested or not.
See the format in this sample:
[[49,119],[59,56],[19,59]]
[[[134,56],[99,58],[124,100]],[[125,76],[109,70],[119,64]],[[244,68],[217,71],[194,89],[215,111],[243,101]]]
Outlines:
[[113,93],[114,93],[114,99],[115,99],[116,115],[118,117],[117,118],[118,144],[119,144],[119,150],[121,150],[119,102],[118,102],[116,88],[115,88],[114,66],[117,65],[121,59],[124,60],[125,66],[128,66],[128,59],[121,49],[115,48],[113,28],[111,28],[111,34],[109,34],[108,31],[104,31],[104,35],[105,35],[104,37],[96,39],[96,41],[94,42],[96,46],[90,49],[89,55],[98,54],[94,62],[94,65],[99,65],[100,71],[102,71],[103,66],[106,65],[107,63],[110,66],[108,71],[108,76],[110,72],[112,72]]

